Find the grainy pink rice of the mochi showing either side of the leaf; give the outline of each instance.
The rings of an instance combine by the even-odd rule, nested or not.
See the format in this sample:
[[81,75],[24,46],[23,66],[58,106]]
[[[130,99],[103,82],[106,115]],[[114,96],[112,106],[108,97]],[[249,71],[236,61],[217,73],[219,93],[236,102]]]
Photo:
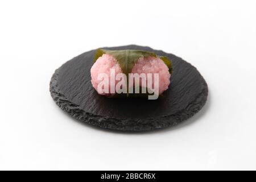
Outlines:
[[[92,85],[93,88],[96,89],[98,92],[98,84],[102,80],[98,80],[98,75],[100,73],[106,73],[109,76],[109,92],[108,93],[99,93],[101,95],[110,96],[110,69],[114,69],[115,75],[118,73],[122,73],[121,68],[119,67],[119,64],[117,60],[108,54],[104,54],[101,57],[99,57],[96,61],[96,63],[93,64],[92,68],[90,69],[90,75],[92,77]],[[166,64],[164,64],[163,60],[159,57],[141,57],[137,61],[137,63],[134,65],[131,73],[152,73],[152,85],[154,87],[154,73],[159,73],[159,94],[162,94],[164,90],[168,89],[168,86],[170,85],[170,73],[169,69]],[[119,82],[119,80],[115,80],[115,85]],[[140,86],[142,85],[142,82],[140,81]]]

